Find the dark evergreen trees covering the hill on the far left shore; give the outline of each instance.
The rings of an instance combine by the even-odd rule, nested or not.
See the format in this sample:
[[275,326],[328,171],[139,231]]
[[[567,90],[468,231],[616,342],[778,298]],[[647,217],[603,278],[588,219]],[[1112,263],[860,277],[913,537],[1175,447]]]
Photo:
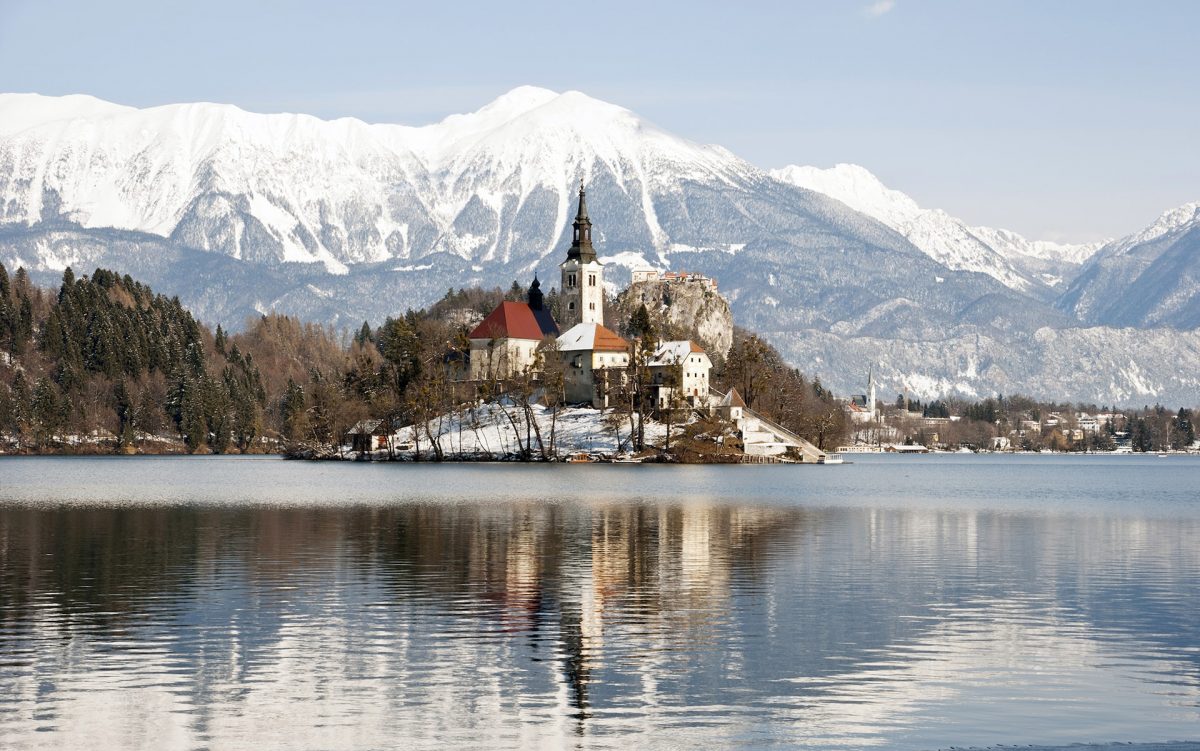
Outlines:
[[0,268],[0,434],[18,450],[132,450],[173,432],[191,451],[248,451],[262,435],[253,359],[128,276],[67,269],[48,293]]

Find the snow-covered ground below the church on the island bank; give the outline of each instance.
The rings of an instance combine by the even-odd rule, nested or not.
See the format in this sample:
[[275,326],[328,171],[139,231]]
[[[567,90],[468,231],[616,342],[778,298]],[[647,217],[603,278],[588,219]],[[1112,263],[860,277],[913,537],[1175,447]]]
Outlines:
[[[539,457],[541,456],[536,438],[539,431],[547,455],[553,453],[558,457],[577,452],[616,456],[631,451],[628,417],[613,420],[612,411],[601,413],[599,409],[568,407],[558,410],[556,420],[553,410],[541,404],[534,404],[530,410],[536,421],[536,431],[532,425],[529,428],[526,427],[524,410],[511,402],[480,404],[472,409],[442,415],[430,421],[428,429],[439,437],[445,456],[455,458],[503,459],[521,453],[527,444],[533,456]],[[392,437],[398,456],[413,456],[415,427],[403,427]],[[665,425],[646,421],[647,445],[661,445],[665,438]],[[420,429],[419,441],[422,458],[432,458],[433,447],[424,428]],[[349,456],[354,452],[347,447],[344,453]],[[388,452],[376,453],[383,457]]]

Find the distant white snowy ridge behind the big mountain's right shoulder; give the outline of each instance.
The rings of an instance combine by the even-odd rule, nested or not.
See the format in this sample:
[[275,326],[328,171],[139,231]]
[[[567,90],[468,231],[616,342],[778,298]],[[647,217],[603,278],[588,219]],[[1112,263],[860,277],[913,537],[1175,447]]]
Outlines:
[[1015,290],[1048,296],[1069,281],[1100,245],[1027,240],[990,227],[968,227],[940,209],[923,209],[910,196],[883,185],[857,164],[828,169],[788,166],[772,176],[823,193],[876,218],[950,269],[979,271]]

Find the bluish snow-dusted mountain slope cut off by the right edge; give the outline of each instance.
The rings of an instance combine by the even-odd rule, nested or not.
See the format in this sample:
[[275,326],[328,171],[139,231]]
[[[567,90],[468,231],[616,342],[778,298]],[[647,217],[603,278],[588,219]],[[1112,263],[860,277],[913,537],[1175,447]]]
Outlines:
[[1200,203],[1105,245],[1057,305],[1094,324],[1200,326]]

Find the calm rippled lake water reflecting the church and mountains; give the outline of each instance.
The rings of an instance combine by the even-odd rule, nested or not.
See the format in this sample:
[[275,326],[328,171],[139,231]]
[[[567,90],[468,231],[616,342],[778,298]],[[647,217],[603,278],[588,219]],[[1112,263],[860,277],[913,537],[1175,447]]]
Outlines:
[[0,747],[1198,740],[1198,480],[0,458]]

